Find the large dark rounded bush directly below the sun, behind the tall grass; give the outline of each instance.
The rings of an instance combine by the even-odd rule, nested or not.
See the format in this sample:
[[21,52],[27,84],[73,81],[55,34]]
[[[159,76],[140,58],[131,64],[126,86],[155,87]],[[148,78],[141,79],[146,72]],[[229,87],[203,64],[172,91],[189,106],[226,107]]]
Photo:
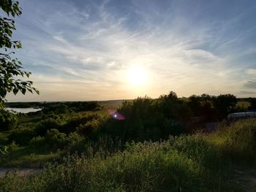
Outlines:
[[[178,99],[164,97],[161,99],[150,99],[148,97],[138,98],[132,101],[123,101],[118,112],[124,115],[125,120],[109,119],[100,130],[105,134],[119,137],[123,142],[135,140],[157,141],[167,139],[171,135],[184,133],[183,121],[176,120],[172,111],[183,111],[186,106],[178,104]],[[166,107],[165,102],[172,103],[172,107]],[[176,107],[175,107],[176,106]],[[181,112],[180,112],[181,113]],[[183,113],[185,116],[186,112]]]

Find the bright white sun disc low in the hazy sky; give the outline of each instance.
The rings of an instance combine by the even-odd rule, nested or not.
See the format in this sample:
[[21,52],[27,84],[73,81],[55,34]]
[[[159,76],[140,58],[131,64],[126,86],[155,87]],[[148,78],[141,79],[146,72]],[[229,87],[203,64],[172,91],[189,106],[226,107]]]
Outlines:
[[128,70],[127,78],[130,85],[135,87],[142,86],[147,80],[146,69],[142,66],[133,66]]

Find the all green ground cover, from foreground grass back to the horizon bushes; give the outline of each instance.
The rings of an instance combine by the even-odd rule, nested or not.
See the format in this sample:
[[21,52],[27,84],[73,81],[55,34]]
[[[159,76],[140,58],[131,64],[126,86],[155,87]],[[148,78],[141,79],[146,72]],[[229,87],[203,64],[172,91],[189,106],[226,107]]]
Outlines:
[[[225,107],[218,107],[229,99]],[[204,126],[221,118],[220,111],[224,117],[241,110],[237,101],[229,94],[189,99],[178,99],[174,92],[158,99],[146,96],[119,105],[116,114],[124,120],[108,114],[109,103],[33,103],[42,110],[16,114],[16,122],[1,124],[0,165],[45,169],[26,177],[7,174],[0,188],[241,191],[235,170],[255,166],[255,119],[231,126],[224,120],[211,133]],[[194,122],[198,116],[200,124]]]

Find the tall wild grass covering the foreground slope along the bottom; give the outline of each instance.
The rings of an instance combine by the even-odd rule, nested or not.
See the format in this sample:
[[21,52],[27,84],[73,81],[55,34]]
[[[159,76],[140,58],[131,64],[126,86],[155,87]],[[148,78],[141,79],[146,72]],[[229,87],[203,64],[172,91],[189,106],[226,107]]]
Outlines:
[[255,167],[255,136],[256,120],[250,119],[211,134],[130,142],[122,152],[68,156],[40,174],[8,174],[0,187],[2,191],[243,191],[235,170]]

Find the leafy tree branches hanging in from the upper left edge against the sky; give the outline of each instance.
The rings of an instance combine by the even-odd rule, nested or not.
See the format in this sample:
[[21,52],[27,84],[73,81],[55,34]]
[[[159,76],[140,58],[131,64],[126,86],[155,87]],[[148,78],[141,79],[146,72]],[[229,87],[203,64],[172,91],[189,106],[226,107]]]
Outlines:
[[[39,91],[32,86],[33,82],[24,80],[26,77],[29,78],[31,72],[23,71],[18,58],[12,58],[15,54],[13,50],[22,47],[20,41],[11,39],[12,31],[16,30],[13,18],[21,15],[18,1],[1,0],[0,8],[4,11],[3,15],[7,15],[7,18],[0,16],[0,120],[4,121],[13,118],[4,107],[7,93],[12,92],[16,95],[19,91],[23,94],[29,91],[39,94]],[[18,79],[20,77],[23,80]]]

